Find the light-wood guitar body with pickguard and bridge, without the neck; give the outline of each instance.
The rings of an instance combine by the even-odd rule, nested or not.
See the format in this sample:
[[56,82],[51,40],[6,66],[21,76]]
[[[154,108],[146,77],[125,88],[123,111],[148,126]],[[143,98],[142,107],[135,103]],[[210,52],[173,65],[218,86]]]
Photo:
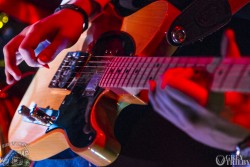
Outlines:
[[[154,2],[125,17],[120,32],[110,26],[111,33],[104,33],[92,48],[89,41],[95,41],[96,36],[88,33],[91,33],[91,28],[93,31],[99,28],[94,21],[75,46],[62,51],[49,64],[50,69],[38,70],[13,117],[9,129],[11,149],[38,161],[70,148],[97,166],[112,163],[120,152],[120,144],[113,132],[118,115],[115,105],[118,96],[98,87],[97,81],[101,75],[97,71],[103,68],[92,68],[93,65],[105,64],[106,60],[102,58],[106,56],[100,59],[96,57],[97,64],[91,64],[90,70],[86,71],[85,67],[92,62],[88,54],[72,51],[82,50],[82,46],[88,45],[88,50],[91,48],[94,54],[99,55],[102,54],[99,50],[112,38],[110,45],[114,49],[100,51],[103,55],[121,53],[150,56],[164,40],[166,31],[179,13],[168,2]],[[94,24],[96,26],[93,27]],[[105,31],[105,28],[102,29]],[[120,42],[113,43],[114,39]],[[117,50],[117,44],[125,44],[129,49],[122,51],[119,47]],[[99,49],[95,48],[97,46],[100,46]],[[126,53],[127,49],[129,53]],[[136,99],[135,103],[142,103],[140,99],[126,96],[123,99],[127,102]]]

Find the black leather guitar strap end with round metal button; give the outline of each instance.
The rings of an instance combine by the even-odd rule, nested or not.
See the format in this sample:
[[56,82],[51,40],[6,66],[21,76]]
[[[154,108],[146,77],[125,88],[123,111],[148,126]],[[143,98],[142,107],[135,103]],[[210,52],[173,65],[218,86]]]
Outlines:
[[226,25],[232,17],[228,0],[196,0],[174,20],[167,34],[174,46],[202,40]]

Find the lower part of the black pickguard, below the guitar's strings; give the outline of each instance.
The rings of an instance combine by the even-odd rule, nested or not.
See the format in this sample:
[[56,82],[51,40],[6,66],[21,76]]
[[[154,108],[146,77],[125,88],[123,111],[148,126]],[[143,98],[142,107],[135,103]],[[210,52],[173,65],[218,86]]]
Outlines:
[[72,145],[78,148],[90,145],[95,139],[96,132],[89,122],[91,106],[94,99],[99,96],[103,89],[99,88],[93,97],[82,96],[79,87],[66,96],[60,106],[60,115],[54,125],[48,131],[62,128],[67,132]]

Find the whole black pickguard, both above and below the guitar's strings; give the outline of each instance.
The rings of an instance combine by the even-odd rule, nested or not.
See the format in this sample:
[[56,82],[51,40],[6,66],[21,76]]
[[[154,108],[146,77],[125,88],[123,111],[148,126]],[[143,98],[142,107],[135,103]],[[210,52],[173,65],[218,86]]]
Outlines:
[[[115,54],[121,54],[120,56],[133,56],[135,53],[134,41],[132,37],[130,37],[125,32],[114,31],[114,32],[104,33],[97,40],[95,46],[93,47],[92,55],[99,55],[102,57],[104,55],[107,55],[107,52],[110,53],[112,56],[116,56]],[[78,57],[76,58],[77,58],[76,60],[78,61]],[[70,59],[67,59],[67,61],[65,61],[64,64],[66,65],[70,64],[69,60]],[[72,60],[77,62],[75,59]],[[95,69],[91,69],[91,72],[94,72],[92,70],[95,71]],[[59,70],[57,72],[57,75],[55,75],[54,77],[55,78],[54,82],[51,82],[50,87],[60,87],[57,85],[58,83],[61,82],[61,80],[63,80],[63,82],[65,83],[67,82],[64,81],[65,77],[61,75],[61,73],[64,74],[62,71],[69,71],[69,70],[68,69]],[[88,69],[85,69],[85,71],[88,71]],[[86,77],[82,77],[81,79],[82,79],[81,81],[84,80],[85,83],[87,83],[86,81],[89,81],[89,79],[86,79]],[[86,96],[85,94],[83,94],[86,86],[87,86],[86,84],[81,84],[79,82],[76,83],[71,93],[65,97],[64,102],[60,106],[59,108],[60,114],[58,119],[56,120],[56,122],[54,122],[53,125],[51,125],[47,129],[47,132],[56,128],[64,129],[68,135],[71,144],[78,148],[83,148],[90,145],[95,139],[96,132],[91,127],[90,111],[93,103],[95,102],[95,99],[104,90],[98,87],[97,91],[93,96]],[[67,87],[67,85],[64,87]]]

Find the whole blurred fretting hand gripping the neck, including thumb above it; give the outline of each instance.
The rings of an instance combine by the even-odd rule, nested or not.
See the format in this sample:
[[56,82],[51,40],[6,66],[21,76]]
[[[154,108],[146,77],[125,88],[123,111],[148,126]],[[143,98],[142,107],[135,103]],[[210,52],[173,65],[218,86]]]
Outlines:
[[[232,33],[225,32],[223,53],[239,57]],[[225,93],[225,104],[234,113],[228,121],[203,107],[208,98],[207,79],[195,75],[194,69],[176,68],[165,72],[158,81],[160,85],[151,81],[149,99],[153,108],[193,139],[217,149],[234,151],[236,145],[249,135],[246,124],[249,125],[250,96]]]

